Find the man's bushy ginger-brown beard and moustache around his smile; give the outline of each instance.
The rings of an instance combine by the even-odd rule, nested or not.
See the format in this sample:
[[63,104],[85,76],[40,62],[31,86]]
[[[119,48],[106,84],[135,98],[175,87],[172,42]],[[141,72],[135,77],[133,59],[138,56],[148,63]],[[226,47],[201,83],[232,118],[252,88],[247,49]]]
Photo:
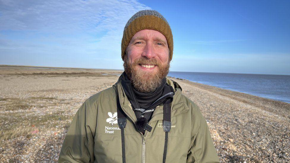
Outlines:
[[[146,72],[138,68],[139,64],[151,64],[156,65],[154,72]],[[144,57],[136,59],[132,64],[130,64],[127,54],[124,56],[124,71],[131,80],[134,88],[139,92],[152,92],[155,91],[157,87],[161,85],[162,79],[166,77],[169,72],[170,62],[162,65],[156,58],[146,59]]]

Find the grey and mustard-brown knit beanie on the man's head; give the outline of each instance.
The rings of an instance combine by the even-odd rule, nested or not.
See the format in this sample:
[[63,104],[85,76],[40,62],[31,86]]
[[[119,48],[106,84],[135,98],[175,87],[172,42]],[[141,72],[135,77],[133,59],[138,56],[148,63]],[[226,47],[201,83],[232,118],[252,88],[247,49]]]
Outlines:
[[124,60],[126,48],[129,42],[131,41],[132,37],[134,36],[134,34],[143,29],[152,29],[155,31],[159,31],[166,37],[168,48],[170,51],[169,61],[171,61],[173,55],[173,37],[171,28],[167,20],[159,12],[155,10],[141,10],[135,13],[128,20],[124,28],[121,44],[122,60]]

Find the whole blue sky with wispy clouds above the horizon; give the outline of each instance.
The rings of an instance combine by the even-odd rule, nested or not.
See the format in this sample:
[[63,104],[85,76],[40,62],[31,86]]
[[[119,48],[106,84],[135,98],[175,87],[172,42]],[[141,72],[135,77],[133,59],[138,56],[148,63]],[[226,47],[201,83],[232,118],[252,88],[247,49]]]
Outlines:
[[124,26],[157,10],[170,71],[290,75],[290,1],[0,0],[0,64],[123,69]]

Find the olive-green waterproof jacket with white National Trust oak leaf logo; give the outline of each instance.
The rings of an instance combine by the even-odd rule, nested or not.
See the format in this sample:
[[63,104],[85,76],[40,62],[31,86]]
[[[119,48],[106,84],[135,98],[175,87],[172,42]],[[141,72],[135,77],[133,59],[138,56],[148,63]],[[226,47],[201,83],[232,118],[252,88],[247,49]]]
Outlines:
[[[166,162],[219,162],[207,121],[198,106],[181,93],[182,88],[175,81],[169,78],[166,81],[175,90]],[[68,129],[58,162],[122,163],[115,89],[121,107],[128,115],[124,129],[126,162],[162,162],[165,140],[163,104],[156,107],[148,123],[152,126],[151,132],[141,134],[135,129],[137,118],[120,82],[121,78],[81,105]]]

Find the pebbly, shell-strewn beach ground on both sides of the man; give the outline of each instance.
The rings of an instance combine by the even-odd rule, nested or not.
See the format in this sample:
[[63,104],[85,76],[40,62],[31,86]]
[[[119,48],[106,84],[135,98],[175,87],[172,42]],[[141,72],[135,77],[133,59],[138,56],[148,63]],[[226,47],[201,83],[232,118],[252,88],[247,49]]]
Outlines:
[[[121,73],[0,65],[0,162],[56,162],[78,108]],[[290,104],[171,79],[200,107],[221,162],[290,162]]]

